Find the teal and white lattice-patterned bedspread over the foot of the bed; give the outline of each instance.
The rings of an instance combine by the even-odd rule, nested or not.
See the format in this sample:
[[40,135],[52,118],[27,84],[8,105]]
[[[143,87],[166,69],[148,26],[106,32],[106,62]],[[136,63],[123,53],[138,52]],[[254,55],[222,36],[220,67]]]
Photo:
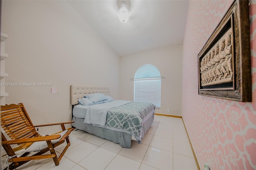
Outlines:
[[137,140],[141,140],[142,119],[155,107],[148,102],[131,102],[111,108],[107,113],[106,126],[125,129]]

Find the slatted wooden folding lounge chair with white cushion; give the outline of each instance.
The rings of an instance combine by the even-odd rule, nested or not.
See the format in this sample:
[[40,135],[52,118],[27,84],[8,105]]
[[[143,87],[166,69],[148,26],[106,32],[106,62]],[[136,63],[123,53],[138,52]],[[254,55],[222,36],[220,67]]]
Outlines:
[[[34,126],[22,103],[1,106],[2,146],[9,156],[8,165],[5,169],[13,170],[30,160],[44,158],[52,158],[55,165],[58,166],[62,156],[70,146],[68,135],[74,130],[74,128],[66,130],[64,124],[67,123],[73,122]],[[52,125],[60,125],[62,132],[41,136],[35,129],[35,127]],[[66,147],[57,157],[54,148],[64,143],[65,139]],[[14,144],[18,144],[18,146],[14,147]],[[50,154],[44,154],[47,151],[50,151]]]

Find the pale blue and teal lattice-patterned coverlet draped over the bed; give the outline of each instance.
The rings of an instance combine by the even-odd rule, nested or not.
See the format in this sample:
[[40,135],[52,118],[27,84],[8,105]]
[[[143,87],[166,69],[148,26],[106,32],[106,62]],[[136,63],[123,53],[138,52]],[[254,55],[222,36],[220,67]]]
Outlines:
[[140,141],[142,119],[156,106],[148,102],[117,100],[86,107],[84,123],[99,127],[119,128]]

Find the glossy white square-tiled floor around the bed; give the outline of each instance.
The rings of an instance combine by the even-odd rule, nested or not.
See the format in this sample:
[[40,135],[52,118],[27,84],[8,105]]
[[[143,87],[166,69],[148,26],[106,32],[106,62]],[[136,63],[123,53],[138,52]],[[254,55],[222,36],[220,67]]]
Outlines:
[[142,143],[132,141],[130,149],[81,130],[71,132],[70,142],[59,166],[33,160],[17,170],[197,170],[180,118],[155,115]]

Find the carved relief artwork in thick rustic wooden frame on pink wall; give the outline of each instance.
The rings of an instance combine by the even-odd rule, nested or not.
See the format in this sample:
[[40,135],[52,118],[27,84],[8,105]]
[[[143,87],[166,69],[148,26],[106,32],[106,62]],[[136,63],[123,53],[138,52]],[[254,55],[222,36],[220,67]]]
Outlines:
[[248,0],[234,0],[198,54],[198,94],[252,101]]

